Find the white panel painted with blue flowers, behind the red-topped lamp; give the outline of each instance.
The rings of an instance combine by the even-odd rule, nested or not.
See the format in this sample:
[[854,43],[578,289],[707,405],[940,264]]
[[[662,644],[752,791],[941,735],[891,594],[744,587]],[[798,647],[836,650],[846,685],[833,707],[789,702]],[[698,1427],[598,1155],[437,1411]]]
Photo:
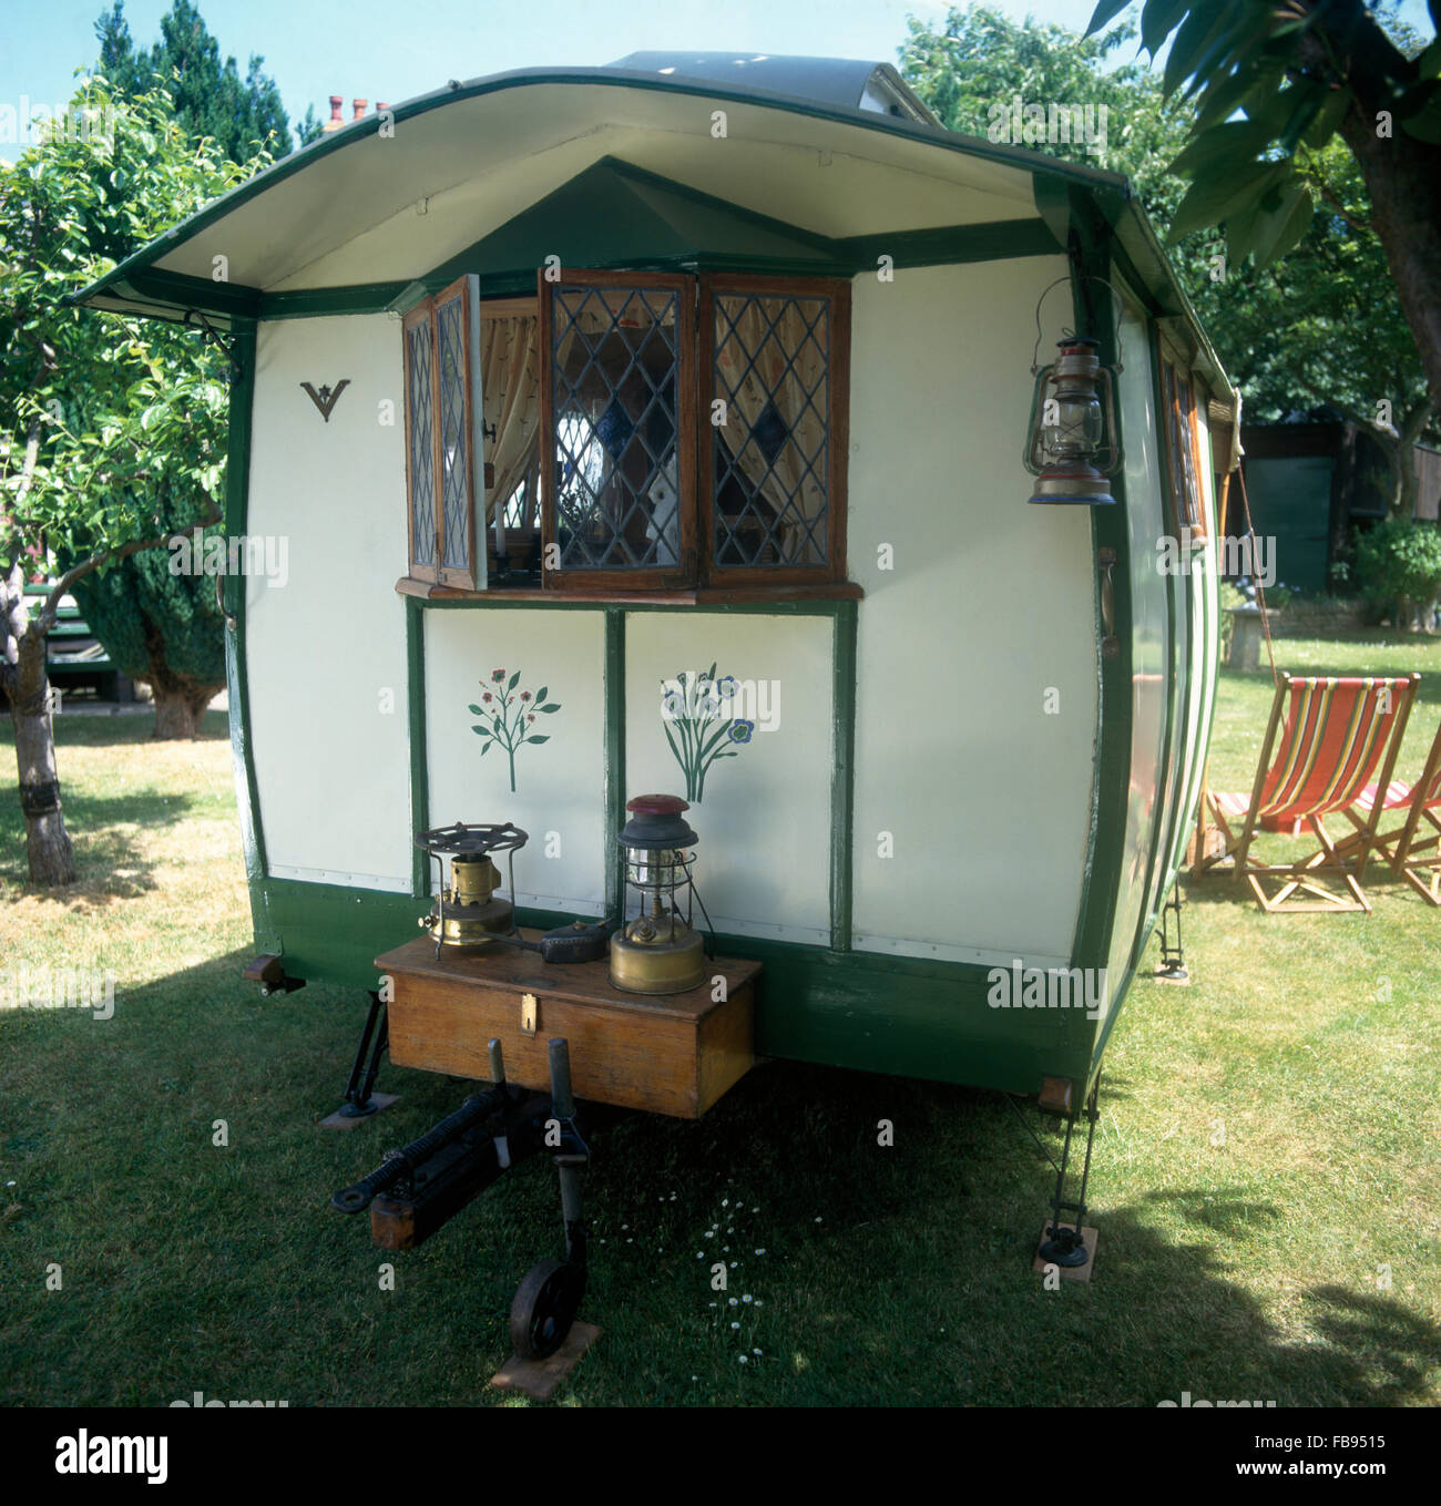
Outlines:
[[[830,617],[626,619],[628,800],[687,791],[666,741],[664,681],[715,664],[717,678],[735,678],[741,694],[726,703],[714,730],[736,718],[756,723],[748,742],[718,744],[735,756],[711,764],[688,813],[700,839],[696,887],[717,931],[830,943],[831,634]],[[673,735],[684,747],[678,727]]]

